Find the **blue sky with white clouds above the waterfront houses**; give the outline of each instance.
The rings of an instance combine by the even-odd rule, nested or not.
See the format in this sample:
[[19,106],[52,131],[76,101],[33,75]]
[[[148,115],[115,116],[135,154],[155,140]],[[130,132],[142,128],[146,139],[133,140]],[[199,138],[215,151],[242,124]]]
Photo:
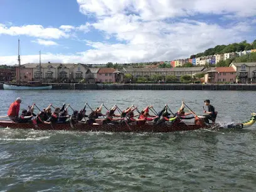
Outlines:
[[0,0],[0,65],[188,58],[256,39],[252,0]]

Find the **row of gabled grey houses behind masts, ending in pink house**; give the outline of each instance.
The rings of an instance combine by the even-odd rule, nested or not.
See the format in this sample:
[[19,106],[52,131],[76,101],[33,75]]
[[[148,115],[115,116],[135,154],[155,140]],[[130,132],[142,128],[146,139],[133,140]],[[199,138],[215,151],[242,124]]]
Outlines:
[[122,82],[124,74],[114,68],[89,68],[78,63],[26,63],[16,66],[16,80],[22,82],[42,80],[43,82],[85,83]]

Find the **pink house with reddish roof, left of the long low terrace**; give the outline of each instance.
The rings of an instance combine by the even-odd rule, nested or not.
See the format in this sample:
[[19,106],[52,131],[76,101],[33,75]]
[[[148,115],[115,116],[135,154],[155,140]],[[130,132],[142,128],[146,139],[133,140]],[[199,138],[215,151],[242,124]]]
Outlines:
[[100,68],[97,73],[97,82],[121,83],[124,80],[124,73],[114,68]]

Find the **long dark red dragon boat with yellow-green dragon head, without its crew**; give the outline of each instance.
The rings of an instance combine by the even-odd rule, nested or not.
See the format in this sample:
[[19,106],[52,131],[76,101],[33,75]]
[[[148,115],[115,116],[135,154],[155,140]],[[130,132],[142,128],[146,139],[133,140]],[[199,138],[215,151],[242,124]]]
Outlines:
[[198,129],[211,129],[213,127],[217,128],[228,128],[228,129],[245,129],[256,122],[256,114],[253,113],[250,120],[242,123],[232,123],[232,124],[205,124],[205,119],[203,116],[199,116],[200,120],[195,120],[195,122],[185,123],[180,122],[179,124],[161,124],[155,125],[152,122],[145,125],[133,125],[133,124],[101,124],[101,125],[88,125],[86,122],[78,122],[77,124],[72,124],[72,122],[66,122],[55,125],[48,124],[32,124],[32,123],[16,123],[10,120],[0,121],[0,127],[12,128],[12,129],[35,129],[35,130],[55,130],[55,131],[104,131],[104,132],[174,132],[174,131],[193,131]]

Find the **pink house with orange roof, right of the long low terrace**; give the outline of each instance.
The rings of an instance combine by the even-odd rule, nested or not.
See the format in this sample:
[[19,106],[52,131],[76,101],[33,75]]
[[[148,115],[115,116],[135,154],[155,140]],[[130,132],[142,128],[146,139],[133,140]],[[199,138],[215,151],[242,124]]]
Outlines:
[[235,81],[236,72],[233,67],[216,67],[205,74],[205,83],[234,83]]

